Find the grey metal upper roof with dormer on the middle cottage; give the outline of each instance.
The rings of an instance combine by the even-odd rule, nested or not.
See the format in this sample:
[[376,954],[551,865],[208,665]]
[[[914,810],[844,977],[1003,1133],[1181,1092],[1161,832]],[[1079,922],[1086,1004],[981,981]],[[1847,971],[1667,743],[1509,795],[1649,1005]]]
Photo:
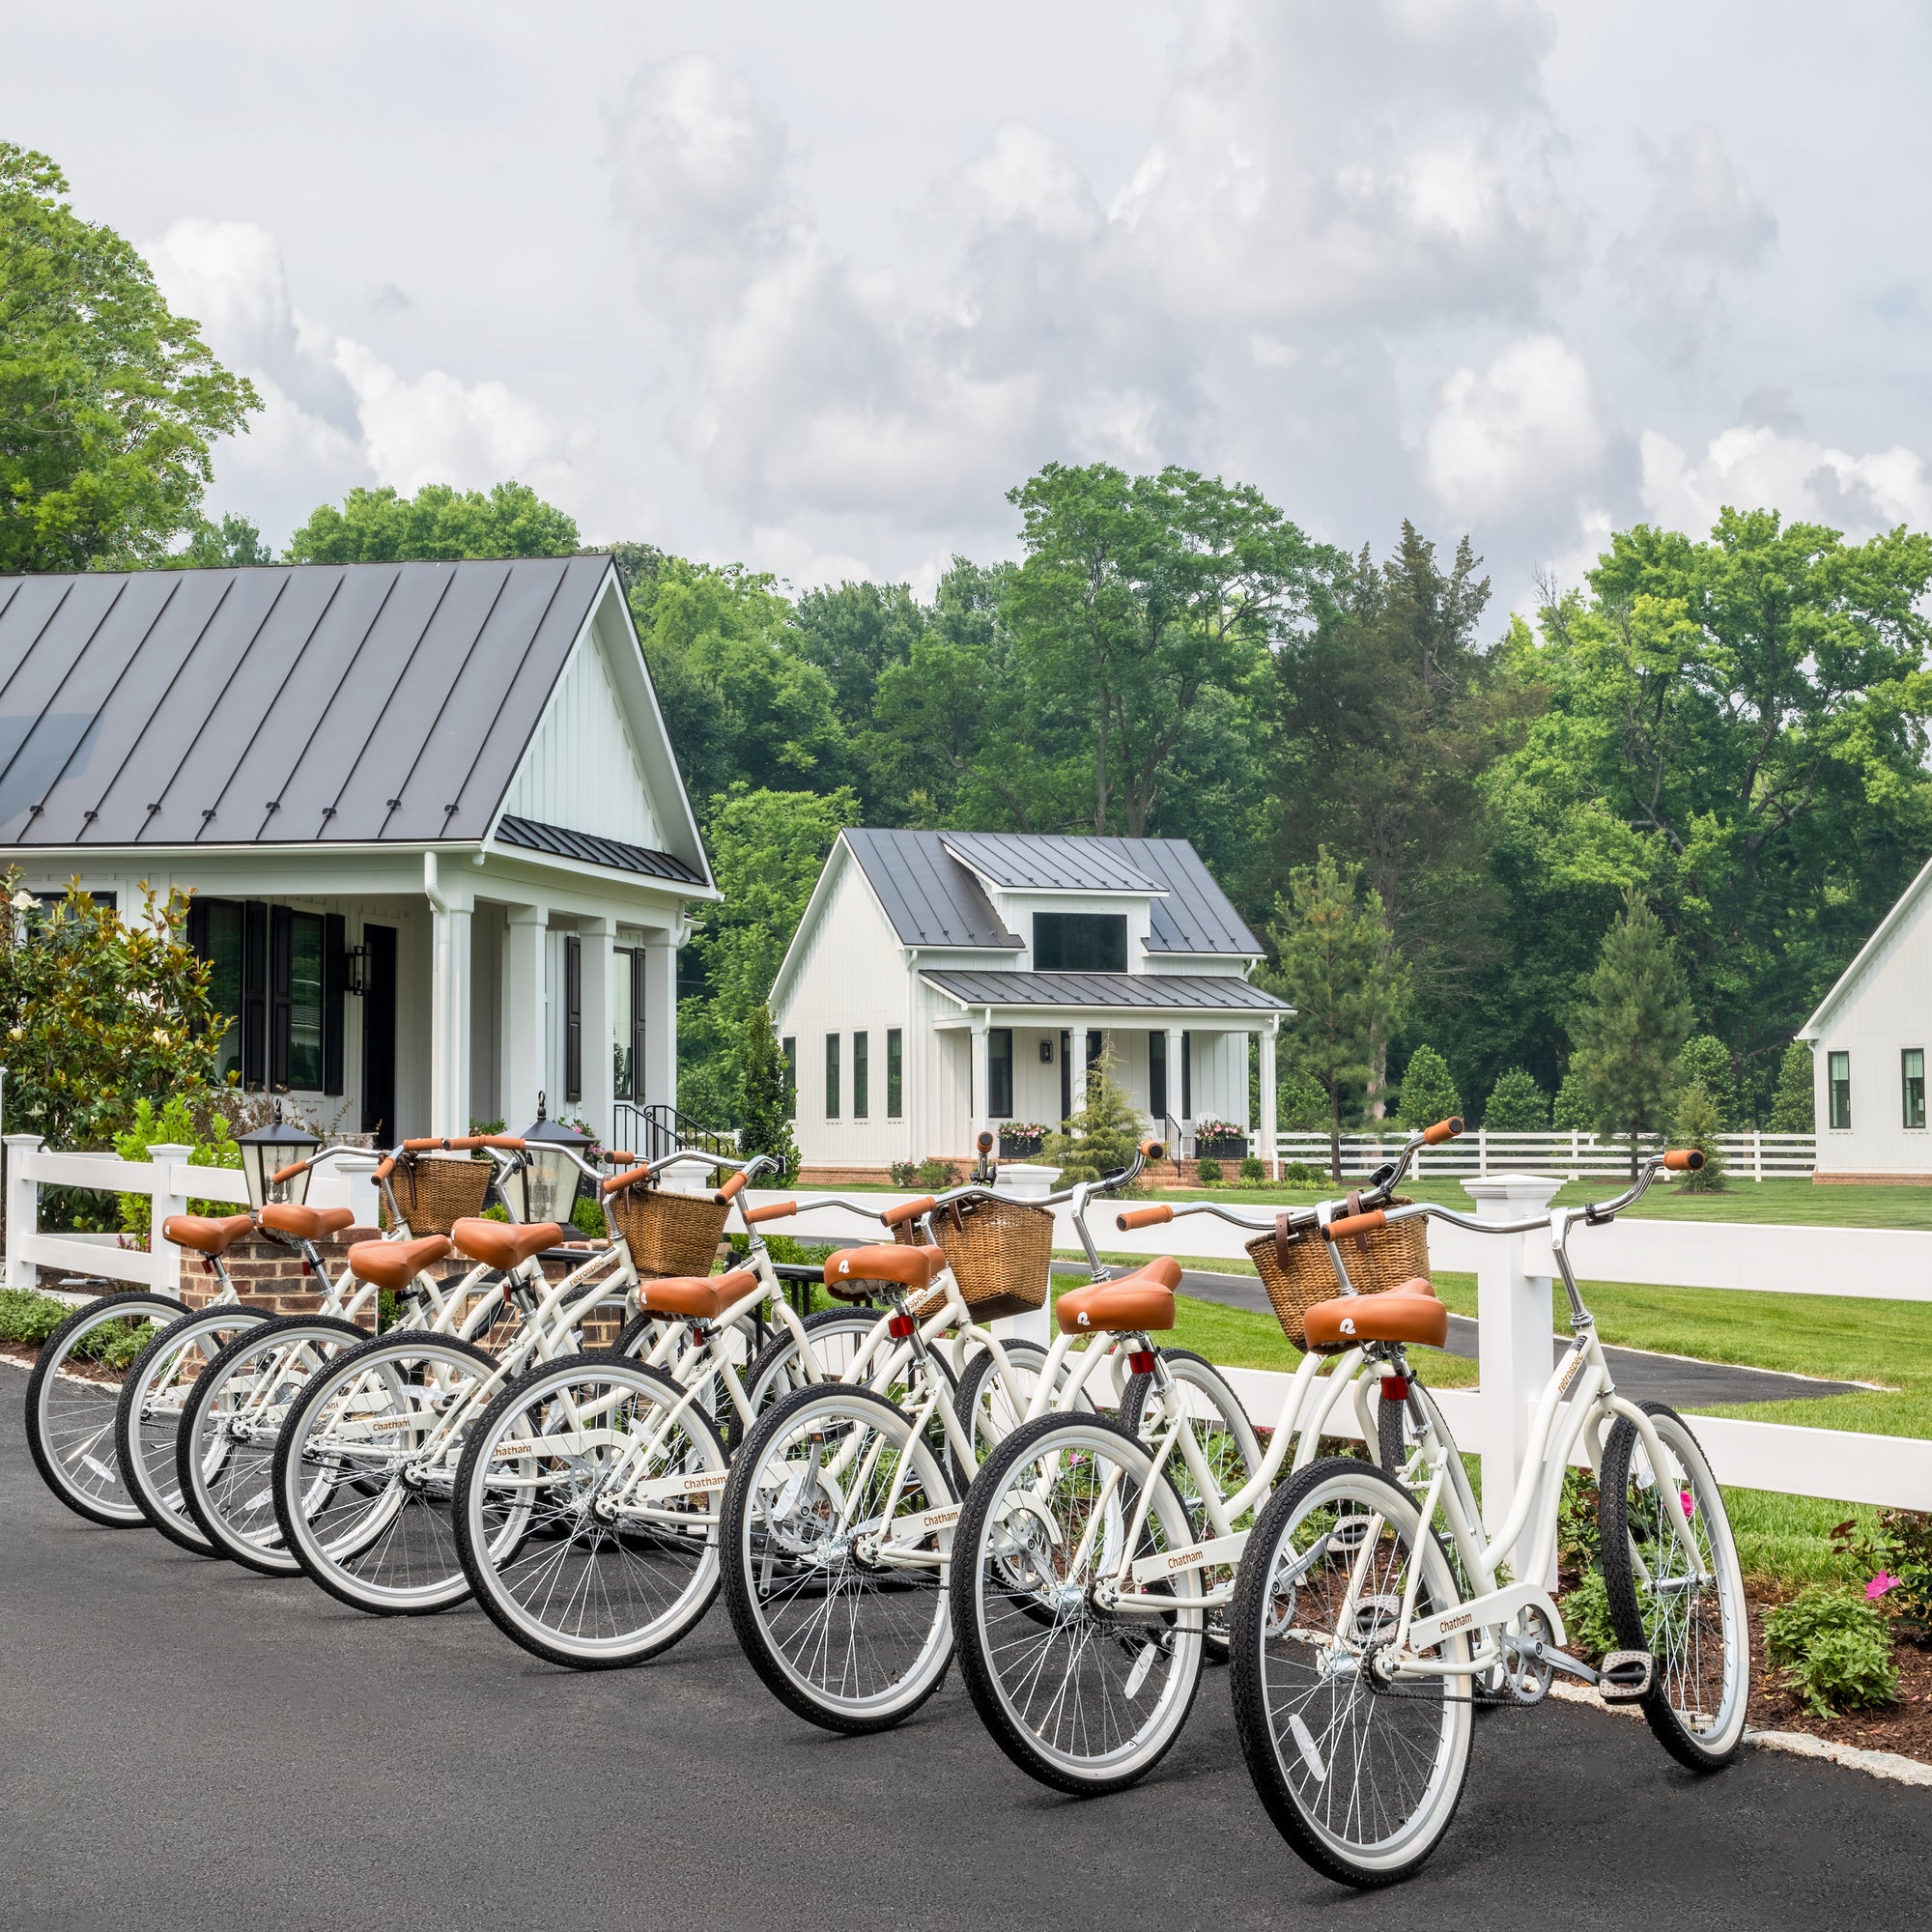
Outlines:
[[844,840],[908,947],[1022,951],[987,898],[981,879],[991,879],[1009,891],[1146,893],[1148,952],[1262,956],[1186,838],[846,831]]

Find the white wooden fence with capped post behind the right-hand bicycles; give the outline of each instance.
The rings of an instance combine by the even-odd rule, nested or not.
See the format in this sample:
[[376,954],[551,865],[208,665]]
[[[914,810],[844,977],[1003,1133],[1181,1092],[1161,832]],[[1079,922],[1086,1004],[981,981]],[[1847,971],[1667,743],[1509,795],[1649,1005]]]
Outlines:
[[[1497,1221],[1526,1221],[1557,1184],[1548,1175],[1478,1179],[1470,1182],[1470,1192],[1478,1196],[1474,1211]],[[752,1198],[767,1202],[781,1196]],[[796,1190],[792,1198],[823,1196]],[[1184,1206],[1184,1200],[1175,1206]],[[1066,1209],[1059,1208],[1057,1217],[1055,1248],[1078,1252],[1080,1240]],[[1184,1254],[1211,1265],[1217,1258],[1246,1262],[1242,1244],[1254,1238],[1211,1215],[1130,1233],[1119,1233],[1113,1217],[1109,1204],[1088,1215],[1103,1254]],[[771,1231],[802,1240],[877,1240],[879,1223],[823,1211],[771,1223]],[[1712,1293],[1756,1289],[1932,1302],[1932,1233],[1638,1219],[1604,1229],[1580,1227],[1571,1235],[1569,1252],[1586,1298],[1590,1281],[1631,1281]],[[1555,1275],[1549,1238],[1476,1235],[1432,1221],[1430,1258],[1434,1267],[1476,1275],[1482,1387],[1445,1389],[1439,1401],[1463,1447],[1484,1457],[1484,1497],[1507,1499],[1520,1466],[1530,1408],[1549,1379],[1549,1289]],[[1876,1368],[1882,1378],[1884,1364]],[[1289,1376],[1246,1368],[1223,1374],[1254,1420],[1273,1424]],[[1352,1422],[1337,1418],[1335,1428],[1347,1434]],[[1698,1416],[1696,1434],[1725,1484],[1932,1509],[1932,1441],[1735,1416]]]

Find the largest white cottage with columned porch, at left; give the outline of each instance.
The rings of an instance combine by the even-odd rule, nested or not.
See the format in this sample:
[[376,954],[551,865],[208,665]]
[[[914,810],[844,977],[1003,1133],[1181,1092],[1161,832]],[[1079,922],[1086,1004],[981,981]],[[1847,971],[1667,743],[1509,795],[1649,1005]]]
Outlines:
[[609,556],[0,578],[0,867],[191,889],[224,1065],[381,1144],[620,1144],[717,898]]

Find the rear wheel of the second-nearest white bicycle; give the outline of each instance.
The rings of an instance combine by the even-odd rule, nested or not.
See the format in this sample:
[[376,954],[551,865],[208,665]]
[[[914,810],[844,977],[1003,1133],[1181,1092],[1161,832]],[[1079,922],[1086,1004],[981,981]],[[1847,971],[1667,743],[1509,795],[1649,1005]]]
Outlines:
[[[1130,1565],[1192,1542],[1146,1443],[1103,1416],[1041,1416],[993,1451],[952,1542],[960,1675],[1001,1750],[1055,1791],[1119,1791],[1180,1735],[1202,1671],[1200,1571]],[[1167,1607],[1171,1604],[1171,1607]]]

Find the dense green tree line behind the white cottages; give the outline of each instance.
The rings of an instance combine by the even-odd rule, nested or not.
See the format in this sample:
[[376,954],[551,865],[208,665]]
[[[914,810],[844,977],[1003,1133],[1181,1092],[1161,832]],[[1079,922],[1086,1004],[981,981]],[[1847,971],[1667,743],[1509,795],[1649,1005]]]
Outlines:
[[[257,398],[64,193],[0,145],[0,570],[267,562],[201,510]],[[1304,1014],[1285,1122],[1461,1095],[1646,1132],[1696,1090],[1706,1124],[1810,1124],[1793,1032],[1932,852],[1932,539],[1638,526],[1503,616],[1468,535],[1349,556],[1190,469],[1049,464],[1010,502],[1018,560],[929,597],[609,547],[726,891],[684,966],[694,1111],[748,1080],[769,1111],[744,1030],[867,823],[1192,840]],[[518,483],[433,485],[286,556],[578,541]]]

